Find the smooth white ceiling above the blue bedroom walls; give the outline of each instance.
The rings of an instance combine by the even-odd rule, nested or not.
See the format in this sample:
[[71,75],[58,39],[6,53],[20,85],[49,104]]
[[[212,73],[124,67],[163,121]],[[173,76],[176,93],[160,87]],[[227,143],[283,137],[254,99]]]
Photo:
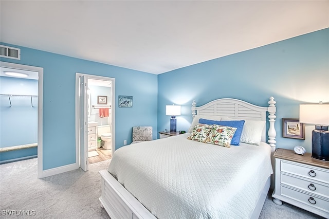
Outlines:
[[328,0],[0,4],[2,42],[152,74],[329,27]]

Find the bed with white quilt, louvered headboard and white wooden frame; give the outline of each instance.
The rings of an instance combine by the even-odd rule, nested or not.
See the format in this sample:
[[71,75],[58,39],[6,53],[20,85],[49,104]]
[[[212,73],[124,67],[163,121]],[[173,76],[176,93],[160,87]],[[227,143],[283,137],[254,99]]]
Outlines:
[[[99,172],[101,206],[111,218],[258,218],[273,173],[275,103],[273,97],[266,107],[230,98],[193,101],[188,133],[114,153]],[[191,139],[198,126],[214,130],[214,121],[228,133],[232,127],[223,124],[244,121],[242,130],[233,127],[239,145]]]

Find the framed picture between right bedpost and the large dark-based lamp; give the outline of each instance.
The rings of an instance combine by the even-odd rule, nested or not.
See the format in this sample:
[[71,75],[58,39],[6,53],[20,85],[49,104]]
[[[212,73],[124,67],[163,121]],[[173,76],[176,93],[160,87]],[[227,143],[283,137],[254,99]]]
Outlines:
[[282,137],[305,139],[305,124],[299,119],[282,118]]

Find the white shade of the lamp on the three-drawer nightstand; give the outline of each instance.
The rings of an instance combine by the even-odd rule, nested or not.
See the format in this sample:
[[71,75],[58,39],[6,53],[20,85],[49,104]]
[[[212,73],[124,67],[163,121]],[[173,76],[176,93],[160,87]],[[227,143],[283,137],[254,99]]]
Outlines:
[[329,104],[300,104],[299,122],[304,124],[329,125]]

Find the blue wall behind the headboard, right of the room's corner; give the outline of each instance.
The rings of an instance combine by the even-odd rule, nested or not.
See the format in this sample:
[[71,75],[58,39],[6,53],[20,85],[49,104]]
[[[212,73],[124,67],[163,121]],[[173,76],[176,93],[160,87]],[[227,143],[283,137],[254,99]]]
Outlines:
[[[182,105],[177,130],[188,130],[191,104],[237,98],[267,106],[277,101],[277,147],[292,149],[305,140],[282,137],[282,118],[299,118],[299,104],[329,102],[329,28],[278,43],[195,64],[158,76],[158,130],[169,129],[167,104]],[[307,126],[307,125],[306,125]],[[313,125],[306,127],[310,135]]]

